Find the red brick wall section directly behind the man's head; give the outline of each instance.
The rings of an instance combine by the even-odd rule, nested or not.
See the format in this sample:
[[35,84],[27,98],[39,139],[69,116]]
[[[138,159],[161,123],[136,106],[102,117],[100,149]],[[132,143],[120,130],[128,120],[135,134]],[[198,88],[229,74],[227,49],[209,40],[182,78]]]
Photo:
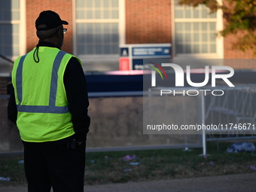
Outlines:
[[55,11],[59,14],[62,20],[69,22],[68,32],[65,35],[62,50],[72,53],[72,0],[27,0],[26,1],[26,50],[32,50],[38,44],[38,37],[36,36],[35,20],[38,18],[41,11]]

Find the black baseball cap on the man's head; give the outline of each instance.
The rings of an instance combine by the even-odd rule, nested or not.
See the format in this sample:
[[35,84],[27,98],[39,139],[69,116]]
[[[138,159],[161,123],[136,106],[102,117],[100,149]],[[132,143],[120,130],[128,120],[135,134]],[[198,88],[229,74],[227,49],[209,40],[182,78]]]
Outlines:
[[35,20],[35,28],[38,31],[46,31],[60,25],[69,25],[69,23],[66,20],[61,20],[59,14],[54,11],[42,11],[37,20]]

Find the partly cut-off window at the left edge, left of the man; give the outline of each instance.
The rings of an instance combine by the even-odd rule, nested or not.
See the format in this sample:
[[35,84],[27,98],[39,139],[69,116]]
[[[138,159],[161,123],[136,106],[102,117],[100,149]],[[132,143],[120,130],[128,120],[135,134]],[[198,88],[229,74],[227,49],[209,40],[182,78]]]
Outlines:
[[0,54],[20,55],[20,0],[0,1]]

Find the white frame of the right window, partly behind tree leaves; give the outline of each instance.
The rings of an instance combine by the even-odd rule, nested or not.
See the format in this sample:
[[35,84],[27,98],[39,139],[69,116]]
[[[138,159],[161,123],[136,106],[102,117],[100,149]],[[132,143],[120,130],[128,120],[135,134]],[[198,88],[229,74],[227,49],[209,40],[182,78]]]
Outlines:
[[[219,4],[222,4],[221,0],[218,0]],[[216,53],[175,53],[175,22],[190,22],[191,19],[175,19],[175,0],[171,0],[172,11],[172,58],[194,58],[194,59],[223,59],[224,58],[224,41],[221,35],[218,35],[216,39]],[[207,21],[216,21],[216,32],[223,30],[223,14],[221,9],[216,12],[217,19],[207,19]],[[193,19],[197,22],[206,21],[205,19]]]

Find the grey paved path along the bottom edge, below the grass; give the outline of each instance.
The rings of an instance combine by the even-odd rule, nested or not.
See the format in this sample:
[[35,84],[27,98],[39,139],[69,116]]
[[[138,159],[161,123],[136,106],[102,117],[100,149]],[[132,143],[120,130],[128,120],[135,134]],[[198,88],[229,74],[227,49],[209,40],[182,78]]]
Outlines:
[[[85,186],[85,192],[254,192],[256,172],[204,178],[183,178],[161,181],[128,182]],[[26,192],[26,187],[0,187],[0,192]],[[75,191],[74,191],[75,192]]]

